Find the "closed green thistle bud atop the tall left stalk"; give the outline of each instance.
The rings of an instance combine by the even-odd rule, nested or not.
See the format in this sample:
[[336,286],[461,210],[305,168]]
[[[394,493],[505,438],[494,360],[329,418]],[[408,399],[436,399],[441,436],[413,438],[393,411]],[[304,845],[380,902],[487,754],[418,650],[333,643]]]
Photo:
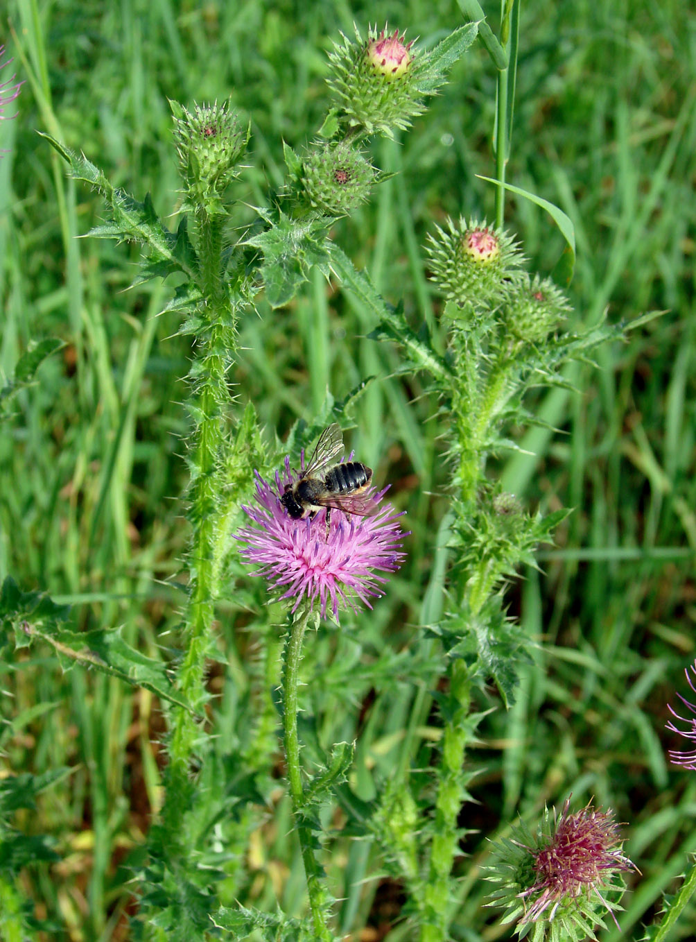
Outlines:
[[249,141],[249,129],[241,127],[226,103],[195,105],[193,112],[178,102],[170,102],[170,106],[189,203],[202,204],[213,215],[221,211],[222,194],[236,176],[236,165]]

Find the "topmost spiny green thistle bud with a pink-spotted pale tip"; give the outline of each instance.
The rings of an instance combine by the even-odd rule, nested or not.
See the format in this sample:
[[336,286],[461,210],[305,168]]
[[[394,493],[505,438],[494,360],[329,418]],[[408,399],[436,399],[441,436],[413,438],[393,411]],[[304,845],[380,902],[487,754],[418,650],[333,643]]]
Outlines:
[[425,111],[413,41],[406,42],[398,30],[390,33],[385,26],[378,33],[370,27],[364,41],[355,26],[355,41],[343,36],[329,58],[333,72],[329,86],[349,130],[391,138],[395,128],[409,127]]

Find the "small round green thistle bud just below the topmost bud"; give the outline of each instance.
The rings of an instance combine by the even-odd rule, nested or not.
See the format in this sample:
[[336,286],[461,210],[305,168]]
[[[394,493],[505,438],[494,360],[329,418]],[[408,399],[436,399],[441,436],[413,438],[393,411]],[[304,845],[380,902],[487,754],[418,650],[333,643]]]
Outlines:
[[310,205],[344,216],[369,197],[376,171],[360,151],[345,142],[310,151],[302,163],[301,183]]

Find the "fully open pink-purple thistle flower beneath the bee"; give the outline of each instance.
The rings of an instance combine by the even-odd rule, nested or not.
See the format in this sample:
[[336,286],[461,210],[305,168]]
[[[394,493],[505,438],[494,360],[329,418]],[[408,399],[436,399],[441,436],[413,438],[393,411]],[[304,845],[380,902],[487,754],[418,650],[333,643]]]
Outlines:
[[[408,535],[397,522],[401,514],[391,504],[365,517],[332,510],[327,539],[325,511],[293,520],[283,508],[285,486],[299,477],[289,458],[283,475],[276,472],[275,487],[258,472],[255,477],[257,505],[242,508],[253,523],[235,534],[246,544],[240,549],[244,561],[257,567],[252,575],[265,577],[278,597],[293,599],[292,611],[303,599],[310,608],[318,600],[322,617],[329,608],[336,620],[339,608],[357,611],[363,603],[371,609],[370,598],[382,595],[380,586],[387,581],[377,573],[395,572],[406,555],[400,550]],[[387,490],[372,495],[376,503]]]

